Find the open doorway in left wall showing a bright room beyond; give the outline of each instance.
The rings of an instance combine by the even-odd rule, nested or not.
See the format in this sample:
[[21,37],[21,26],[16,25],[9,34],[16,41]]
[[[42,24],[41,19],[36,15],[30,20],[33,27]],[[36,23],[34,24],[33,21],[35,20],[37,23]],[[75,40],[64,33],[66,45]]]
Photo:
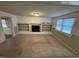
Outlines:
[[11,24],[11,20],[9,18],[1,18],[1,24],[2,24],[2,28],[5,34],[5,38],[11,38],[12,37],[12,24]]

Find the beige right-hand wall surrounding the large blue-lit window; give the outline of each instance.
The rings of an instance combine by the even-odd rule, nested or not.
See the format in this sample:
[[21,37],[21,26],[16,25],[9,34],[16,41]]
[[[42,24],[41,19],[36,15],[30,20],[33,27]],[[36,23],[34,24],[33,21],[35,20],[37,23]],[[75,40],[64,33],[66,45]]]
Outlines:
[[66,34],[61,33],[59,31],[53,31],[53,34],[56,37],[58,37],[58,39],[61,40],[63,43],[66,43],[66,45],[70,47],[70,49],[77,52],[76,54],[79,55],[79,47],[78,47],[79,45],[79,12],[74,12],[74,13],[63,15],[60,17],[55,17],[53,20],[55,20],[55,24],[56,24],[56,20],[60,18],[68,18],[68,17],[75,18],[75,23],[72,28],[72,36],[68,37],[69,35],[67,36]]

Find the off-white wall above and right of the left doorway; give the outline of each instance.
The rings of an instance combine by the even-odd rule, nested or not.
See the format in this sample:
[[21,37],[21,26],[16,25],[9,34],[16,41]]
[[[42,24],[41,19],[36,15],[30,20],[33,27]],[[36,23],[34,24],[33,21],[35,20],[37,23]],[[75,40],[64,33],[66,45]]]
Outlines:
[[12,34],[13,34],[13,36],[15,36],[16,35],[16,28],[17,28],[17,16],[13,15],[13,14],[10,14],[10,13],[3,12],[3,11],[0,11],[0,16],[11,18],[11,21],[12,21],[11,22],[12,23]]

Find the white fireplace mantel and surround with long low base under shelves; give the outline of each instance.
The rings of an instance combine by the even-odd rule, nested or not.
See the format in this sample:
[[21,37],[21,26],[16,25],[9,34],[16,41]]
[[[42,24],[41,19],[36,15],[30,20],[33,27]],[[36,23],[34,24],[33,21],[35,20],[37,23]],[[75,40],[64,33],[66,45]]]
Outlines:
[[[18,31],[18,34],[51,34],[51,31],[42,31],[42,23],[27,23],[29,31]],[[32,25],[40,26],[40,32],[32,32]]]

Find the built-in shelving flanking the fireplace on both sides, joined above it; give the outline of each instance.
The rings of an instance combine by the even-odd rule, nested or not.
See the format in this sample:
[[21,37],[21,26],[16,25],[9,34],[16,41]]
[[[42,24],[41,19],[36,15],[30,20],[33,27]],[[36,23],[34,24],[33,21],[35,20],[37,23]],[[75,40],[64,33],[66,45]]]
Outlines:
[[[31,25],[29,27],[29,25]],[[31,31],[32,30],[32,25],[38,25],[38,24],[28,24],[28,23],[18,23],[18,31]],[[52,25],[50,24],[39,24],[40,26],[40,31],[41,32],[50,32]]]

